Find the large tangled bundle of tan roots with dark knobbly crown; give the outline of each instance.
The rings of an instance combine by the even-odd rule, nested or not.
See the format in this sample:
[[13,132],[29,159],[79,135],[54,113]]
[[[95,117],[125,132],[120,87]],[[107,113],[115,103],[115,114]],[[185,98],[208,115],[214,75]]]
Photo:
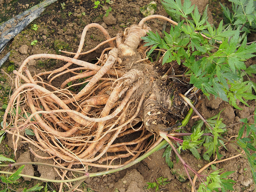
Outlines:
[[[168,73],[184,74],[186,68],[175,62],[170,67],[147,60],[149,47],[143,46],[141,37],[150,30],[144,22],[152,18],[176,24],[162,16],[150,16],[110,38],[103,27],[92,23],[84,28],[77,52],[68,52],[74,58],[53,54],[28,57],[19,71],[14,71],[16,90],[4,114],[4,129],[13,134],[16,149],[22,138],[63,166],[72,162],[116,168],[150,148],[158,130],[171,131],[188,111],[179,93],[185,94],[191,85],[182,76],[161,78]],[[103,44],[82,52],[89,28],[100,29],[107,39],[103,43],[110,45],[95,64],[78,59]],[[33,76],[26,67],[28,61],[45,58],[67,63]],[[56,79],[62,82],[54,86]],[[26,129],[35,136],[21,136]]]

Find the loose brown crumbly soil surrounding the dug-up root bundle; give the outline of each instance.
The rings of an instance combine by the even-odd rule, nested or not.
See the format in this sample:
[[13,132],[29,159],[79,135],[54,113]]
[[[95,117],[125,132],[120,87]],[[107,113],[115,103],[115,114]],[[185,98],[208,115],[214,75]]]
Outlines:
[[[33,3],[29,0],[0,0],[0,23],[6,21],[13,16],[27,10],[31,6],[38,4],[40,1],[34,0]],[[65,9],[61,8],[61,3],[65,2]],[[111,1],[112,2],[112,1]],[[111,6],[111,14],[106,18],[103,17],[105,11],[99,7],[93,9],[93,2],[89,0],[84,0],[81,4],[78,1],[67,0],[67,1],[57,1],[46,8],[46,10],[41,14],[41,17],[34,20],[27,28],[25,28],[19,35],[17,35],[0,54],[2,58],[7,52],[11,51],[11,56],[9,60],[4,63],[1,67],[0,75],[0,106],[8,103],[9,92],[12,87],[12,80],[4,72],[8,73],[12,78],[12,70],[19,68],[22,61],[28,56],[38,53],[53,53],[56,54],[59,49],[65,51],[76,52],[78,47],[81,33],[83,28],[89,23],[99,23],[104,28],[108,30],[111,37],[116,36],[118,31],[123,31],[126,27],[133,24],[138,24],[138,22],[143,18],[140,14],[140,7],[148,4],[150,0],[113,0],[113,4],[104,4],[104,6]],[[161,6],[160,0],[155,1],[157,4],[156,14],[167,16]],[[208,11],[209,22],[218,23],[221,19],[221,10],[219,4],[214,3],[214,1],[208,2],[208,0],[194,0],[194,4],[197,4],[199,10],[202,12],[205,6],[210,3],[210,10]],[[222,4],[227,3],[225,0],[221,1]],[[69,15],[69,13],[72,13]],[[36,24],[38,29],[35,31],[32,29],[33,24]],[[165,26],[165,21],[163,20],[153,20],[147,22],[152,31],[157,31],[162,35],[163,27]],[[167,23],[166,31],[168,31],[170,25]],[[1,32],[0,32],[1,34]],[[36,45],[30,45],[33,40],[37,40]],[[98,45],[100,42],[104,41],[105,38],[99,30],[90,29],[85,37],[85,45],[83,50],[90,50]],[[92,61],[101,53],[104,46],[101,49],[96,50],[92,54],[86,55],[86,57],[81,60]],[[255,64],[255,59],[247,61],[247,67],[249,65]],[[47,62],[38,62],[36,60],[29,63],[29,69],[38,71],[45,71],[52,68],[58,68],[63,65],[62,61],[47,60]],[[255,81],[255,78],[251,79]],[[58,82],[56,82],[58,83]],[[244,108],[243,111],[236,110],[229,106],[228,103],[223,102],[220,99],[214,99],[211,97],[210,100],[202,100],[202,105],[199,108],[200,113],[205,117],[209,118],[219,113],[220,110],[224,109],[221,113],[221,118],[224,119],[223,123],[227,126],[239,122],[241,118],[250,116],[255,109],[255,101],[249,102],[251,108],[245,107],[239,103],[239,107]],[[0,107],[2,118],[4,109]],[[1,120],[1,119],[0,119]],[[187,126],[186,131],[190,131],[193,123],[196,121],[192,120]],[[2,120],[1,120],[2,121]],[[239,125],[232,126],[228,128],[226,133],[226,138],[230,138],[238,133]],[[14,158],[12,150],[12,136],[7,135],[4,141],[1,143],[0,154]],[[26,143],[19,143],[19,151],[17,152],[17,157],[19,162],[24,161],[42,161],[42,159],[37,159],[32,154],[29,154],[28,147]],[[31,146],[33,147],[33,146]],[[231,157],[237,154],[237,151],[231,146],[226,146],[228,150],[220,148],[220,153],[223,155],[222,158]],[[203,154],[204,149],[199,151],[199,154]],[[172,155],[172,161],[174,163],[174,168],[171,170],[165,163],[165,159],[162,158],[164,149],[161,149],[149,158],[144,159],[142,162],[120,172],[105,175],[103,177],[89,178],[80,186],[83,191],[99,191],[99,192],[131,192],[131,191],[155,191],[155,189],[147,189],[146,182],[155,182],[155,180],[161,176],[168,178],[170,183],[165,186],[159,186],[160,191],[191,191],[191,184],[189,183],[186,173],[184,172],[182,164],[176,163],[175,156]],[[43,153],[38,152],[39,155]],[[193,155],[184,151],[181,152],[182,158],[191,165],[195,170],[199,170],[208,162],[205,160],[197,160]],[[50,162],[46,162],[50,163]],[[236,180],[237,183],[234,186],[235,191],[254,191],[254,185],[252,181],[252,175],[250,172],[249,165],[242,156],[226,161],[220,164],[216,164],[216,169],[224,169],[225,171],[235,171],[230,175],[230,179]],[[16,168],[18,169],[18,168]],[[215,170],[216,170],[215,169]],[[27,167],[27,173],[34,174],[35,176],[42,176],[47,178],[59,179],[56,172],[52,169],[45,169],[42,167]],[[92,167],[90,172],[104,171],[100,168]],[[212,167],[209,167],[205,172],[212,172]],[[68,175],[72,177],[72,175]],[[77,176],[77,175],[76,175]],[[191,176],[193,176],[191,174]],[[26,181],[25,179],[20,179],[20,184],[13,186],[17,191],[22,191],[23,188],[29,188],[38,181]],[[1,186],[2,184],[0,184]],[[45,183],[42,183],[45,185]],[[198,186],[198,182],[196,183]],[[50,184],[50,187],[54,190],[58,188],[58,184]],[[48,187],[49,190],[52,190]],[[1,187],[0,187],[1,188]],[[66,191],[66,188],[64,188]]]

